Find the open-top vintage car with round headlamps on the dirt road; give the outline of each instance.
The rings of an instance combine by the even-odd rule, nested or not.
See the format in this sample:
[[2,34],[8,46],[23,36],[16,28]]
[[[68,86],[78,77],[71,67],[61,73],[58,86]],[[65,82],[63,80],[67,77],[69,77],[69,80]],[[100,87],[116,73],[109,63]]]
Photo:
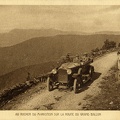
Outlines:
[[47,78],[48,91],[59,88],[60,86],[66,86],[66,88],[72,88],[74,93],[88,80],[92,80],[94,73],[94,67],[90,65],[93,60],[88,62],[67,62],[61,66],[54,68]]

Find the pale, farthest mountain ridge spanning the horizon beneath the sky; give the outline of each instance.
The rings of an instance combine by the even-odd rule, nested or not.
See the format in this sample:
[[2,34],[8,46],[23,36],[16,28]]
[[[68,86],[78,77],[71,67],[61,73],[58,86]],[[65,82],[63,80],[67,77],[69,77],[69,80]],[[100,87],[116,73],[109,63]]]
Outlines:
[[13,46],[26,40],[36,37],[48,37],[56,35],[95,35],[95,34],[112,34],[120,35],[119,31],[100,31],[95,33],[79,31],[62,31],[57,29],[13,29],[8,33],[0,33],[0,47]]

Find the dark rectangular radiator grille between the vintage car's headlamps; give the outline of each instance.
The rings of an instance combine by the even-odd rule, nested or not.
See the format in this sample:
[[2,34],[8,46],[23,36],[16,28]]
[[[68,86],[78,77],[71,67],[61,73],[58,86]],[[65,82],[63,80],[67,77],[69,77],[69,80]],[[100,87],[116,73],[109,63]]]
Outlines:
[[66,70],[58,70],[58,82],[67,83],[68,82],[68,74]]

